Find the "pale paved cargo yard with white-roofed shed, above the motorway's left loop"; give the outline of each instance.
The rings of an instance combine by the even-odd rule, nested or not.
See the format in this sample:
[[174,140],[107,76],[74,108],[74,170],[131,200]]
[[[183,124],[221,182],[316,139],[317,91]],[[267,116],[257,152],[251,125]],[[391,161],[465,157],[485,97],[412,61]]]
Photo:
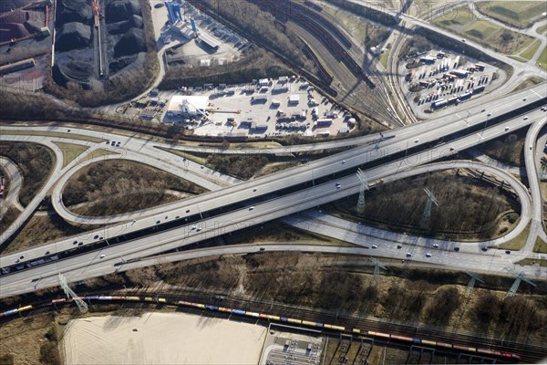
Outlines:
[[[184,94],[184,95],[181,95]],[[348,133],[355,119],[303,79],[260,79],[247,85],[184,88],[170,97],[163,122],[205,136]]]

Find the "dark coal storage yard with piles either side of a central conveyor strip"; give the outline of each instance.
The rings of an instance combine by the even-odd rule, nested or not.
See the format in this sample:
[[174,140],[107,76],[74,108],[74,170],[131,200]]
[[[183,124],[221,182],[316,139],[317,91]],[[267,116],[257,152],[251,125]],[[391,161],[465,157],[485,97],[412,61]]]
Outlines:
[[[2,0],[0,0],[2,1]],[[103,87],[114,75],[134,75],[142,68],[146,36],[139,0],[100,0],[104,19],[94,26],[91,0],[57,0],[56,65],[58,85],[70,81],[86,89]],[[60,19],[60,22],[59,22]],[[102,69],[98,64],[98,37]]]

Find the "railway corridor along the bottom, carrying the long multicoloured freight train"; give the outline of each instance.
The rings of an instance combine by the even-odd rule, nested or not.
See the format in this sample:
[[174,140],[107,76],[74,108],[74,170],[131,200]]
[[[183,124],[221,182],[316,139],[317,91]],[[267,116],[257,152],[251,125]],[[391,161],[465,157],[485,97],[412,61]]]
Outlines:
[[[264,324],[268,323],[270,319],[266,319],[265,317],[267,316],[259,317],[259,313],[269,313],[274,315],[274,317],[277,316],[277,320],[279,320],[279,318],[282,318],[282,322],[283,318],[285,318],[285,321],[287,321],[287,318],[289,318],[289,323],[301,323],[303,326],[307,327],[310,327],[310,324],[313,327],[314,323],[325,323],[325,326],[321,325],[320,328],[326,335],[334,335],[338,337],[341,333],[349,332],[352,334],[352,336],[360,339],[362,338],[361,334],[363,334],[362,336],[370,336],[370,333],[372,332],[373,334],[377,334],[374,341],[382,346],[392,342],[392,344],[395,346],[401,346],[402,343],[398,339],[405,339],[402,336],[408,336],[407,339],[418,339],[418,341],[421,341],[421,343],[426,345],[428,348],[430,346],[435,346],[428,345],[427,342],[431,342],[434,344],[439,344],[436,346],[438,348],[440,347],[441,351],[446,352],[447,350],[451,351],[453,349],[456,351],[456,353],[466,353],[467,356],[482,356],[490,358],[490,355],[484,355],[484,351],[480,352],[477,349],[498,351],[498,355],[493,355],[492,352],[491,357],[501,357],[501,354],[503,354],[500,359],[507,360],[509,358],[511,362],[515,362],[515,359],[518,359],[515,358],[516,355],[511,354],[518,354],[523,362],[529,363],[541,361],[547,353],[547,349],[544,346],[534,345],[530,343],[518,343],[499,339],[484,338],[466,331],[459,331],[458,333],[454,333],[448,332],[442,328],[435,328],[432,326],[390,321],[378,321],[377,319],[370,318],[358,318],[347,315],[346,313],[340,315],[338,312],[334,313],[332,311],[324,309],[284,305],[280,303],[274,303],[273,301],[265,301],[261,299],[232,297],[226,295],[219,296],[214,293],[195,292],[173,295],[170,291],[163,291],[161,287],[158,289],[159,290],[157,291],[124,290],[122,294],[119,294],[119,286],[110,286],[109,290],[108,288],[94,290],[92,292],[82,294],[82,297],[96,305],[119,303],[123,304],[124,306],[136,306],[138,308],[142,308],[143,303],[145,305],[148,303],[152,305],[168,305],[178,308],[186,308],[185,310],[190,311],[191,313],[207,316],[216,316],[217,314],[219,314],[219,312],[227,312],[229,316],[243,315],[249,312],[253,312],[253,316],[246,316],[241,318],[264,321]],[[82,292],[84,290],[82,288],[79,288],[77,291]],[[70,304],[71,302],[67,301],[67,299],[52,299],[52,297],[47,297],[41,298],[39,301],[33,303],[32,305],[29,305],[29,300],[30,298],[27,298],[26,301],[22,301],[19,303],[20,306],[26,304],[25,307],[20,307],[20,312],[29,310],[46,311],[51,309],[57,309],[57,306]],[[181,307],[181,302],[190,304],[190,301],[192,302],[191,306]],[[220,307],[233,309],[220,310]],[[2,312],[2,310],[0,310],[0,321],[4,322],[5,320],[10,320],[10,318],[17,318],[17,316],[14,316],[16,312],[18,312],[17,309],[8,310],[7,312]],[[2,318],[5,313],[10,313],[11,316]],[[261,314],[261,316],[263,315]],[[304,323],[306,321],[307,324]],[[326,323],[328,323],[329,325],[327,326]],[[390,335],[387,335],[387,333]],[[449,347],[447,347],[444,344],[450,345]],[[403,346],[408,347],[408,345],[410,345],[410,349],[415,348],[415,345],[413,345],[412,343],[405,343],[405,345]],[[418,348],[423,349],[424,345],[421,345]],[[364,356],[366,356],[366,353],[369,350],[370,349],[366,347],[363,349],[364,355],[362,359],[366,359]],[[471,353],[472,355],[470,355],[469,353]],[[420,350],[420,356],[422,355],[423,351]],[[411,356],[414,357],[414,355]]]

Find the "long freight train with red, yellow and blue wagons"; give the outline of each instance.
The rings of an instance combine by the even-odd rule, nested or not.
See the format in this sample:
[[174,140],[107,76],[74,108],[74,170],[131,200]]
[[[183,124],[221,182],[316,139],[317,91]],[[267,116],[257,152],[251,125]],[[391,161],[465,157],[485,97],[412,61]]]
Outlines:
[[[236,308],[223,308],[223,307],[213,306],[211,304],[195,303],[195,302],[189,302],[185,300],[171,302],[170,300],[164,297],[86,296],[86,297],[80,297],[80,298],[84,300],[88,300],[88,301],[92,300],[92,301],[99,301],[99,302],[129,301],[129,302],[149,302],[149,303],[158,303],[158,304],[159,303],[170,304],[170,305],[174,305],[178,307],[197,308],[197,309],[203,309],[203,310],[208,310],[213,312],[222,312],[226,314],[232,314],[232,315],[243,316],[243,317],[260,318],[260,319],[274,321],[274,322],[291,323],[294,325],[304,326],[307,328],[314,328],[314,329],[325,328],[326,330],[331,332],[334,331],[334,332],[345,333],[345,334],[353,334],[356,336],[367,336],[374,339],[394,340],[397,342],[405,342],[405,343],[413,344],[413,345],[425,345],[425,346],[435,347],[439,349],[455,349],[458,351],[477,353],[480,355],[496,356],[506,360],[521,360],[520,355],[509,353],[509,352],[501,352],[501,351],[493,350],[493,349],[480,349],[480,348],[450,344],[450,343],[446,343],[442,341],[436,341],[433,339],[418,339],[418,338],[393,335],[389,333],[370,331],[370,330],[359,329],[359,328],[346,328],[343,326],[336,326],[336,325],[332,325],[328,323],[319,323],[319,322],[312,322],[312,321],[307,321],[307,320],[298,319],[298,318],[275,316],[271,314],[251,312],[251,311],[236,309]],[[57,304],[59,305],[68,304],[68,303],[71,303],[72,301],[73,299],[60,298],[60,299],[51,300],[49,304],[51,306],[57,306]],[[33,306],[26,306],[26,307],[7,310],[5,312],[0,312],[0,318],[12,316],[16,313],[21,313],[30,309],[33,309]]]

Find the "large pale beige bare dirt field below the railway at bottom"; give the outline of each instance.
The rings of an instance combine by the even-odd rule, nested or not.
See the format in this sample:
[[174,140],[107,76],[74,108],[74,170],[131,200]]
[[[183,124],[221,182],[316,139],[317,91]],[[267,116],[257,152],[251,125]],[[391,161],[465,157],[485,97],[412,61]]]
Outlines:
[[256,364],[266,328],[187,314],[92,317],[68,323],[67,364]]

